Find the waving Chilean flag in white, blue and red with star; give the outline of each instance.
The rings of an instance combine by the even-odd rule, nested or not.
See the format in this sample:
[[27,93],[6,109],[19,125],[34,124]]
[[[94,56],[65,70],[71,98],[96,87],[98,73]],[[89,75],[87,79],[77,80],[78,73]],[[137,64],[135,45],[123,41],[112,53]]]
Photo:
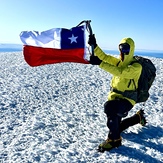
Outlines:
[[85,59],[85,26],[47,31],[23,31],[25,61],[32,67],[61,62],[89,64]]

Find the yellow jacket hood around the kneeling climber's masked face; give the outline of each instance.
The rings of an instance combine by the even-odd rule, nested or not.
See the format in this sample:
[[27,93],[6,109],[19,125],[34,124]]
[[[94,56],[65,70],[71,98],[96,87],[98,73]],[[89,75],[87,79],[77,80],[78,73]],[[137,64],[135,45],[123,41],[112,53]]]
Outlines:
[[134,56],[134,51],[135,51],[135,43],[134,41],[131,39],[131,38],[123,38],[121,41],[120,41],[120,44],[122,43],[127,43],[130,45],[130,52],[128,55],[124,55],[124,60],[122,62],[123,66],[126,66],[128,65],[132,59],[133,59],[133,56]]

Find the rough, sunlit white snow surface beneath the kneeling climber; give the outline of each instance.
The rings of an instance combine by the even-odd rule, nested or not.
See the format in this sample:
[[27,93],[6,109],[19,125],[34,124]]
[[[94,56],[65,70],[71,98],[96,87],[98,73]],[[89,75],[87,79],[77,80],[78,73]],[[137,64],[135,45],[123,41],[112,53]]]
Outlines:
[[163,59],[145,109],[148,124],[122,133],[123,145],[98,153],[107,138],[103,104],[111,75],[98,66],[30,67],[22,52],[0,53],[0,163],[163,162]]

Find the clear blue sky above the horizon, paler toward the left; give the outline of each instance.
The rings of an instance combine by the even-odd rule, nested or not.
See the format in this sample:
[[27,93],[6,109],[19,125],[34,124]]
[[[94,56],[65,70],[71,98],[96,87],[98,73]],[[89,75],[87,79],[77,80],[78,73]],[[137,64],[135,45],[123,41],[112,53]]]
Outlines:
[[1,0],[0,42],[21,43],[21,31],[71,28],[82,20],[92,21],[103,49],[131,37],[136,49],[163,51],[163,0]]

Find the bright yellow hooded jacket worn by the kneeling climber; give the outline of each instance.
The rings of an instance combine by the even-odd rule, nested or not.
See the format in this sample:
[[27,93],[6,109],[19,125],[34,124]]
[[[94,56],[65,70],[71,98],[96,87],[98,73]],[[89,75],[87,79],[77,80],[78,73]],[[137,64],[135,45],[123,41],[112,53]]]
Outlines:
[[[95,55],[102,60],[99,65],[100,68],[113,75],[110,86],[113,89],[124,92],[127,90],[135,90],[135,86],[136,88],[138,87],[138,79],[142,71],[142,66],[139,63],[130,65],[132,61],[135,61],[133,58],[135,50],[134,41],[131,38],[124,38],[121,40],[120,44],[121,43],[128,43],[130,45],[130,52],[128,55],[124,55],[123,61],[120,58],[118,59],[105,54],[98,46],[95,48]],[[127,99],[132,105],[136,103],[133,99],[126,98],[121,94],[110,91],[108,100],[113,100],[115,98]]]

